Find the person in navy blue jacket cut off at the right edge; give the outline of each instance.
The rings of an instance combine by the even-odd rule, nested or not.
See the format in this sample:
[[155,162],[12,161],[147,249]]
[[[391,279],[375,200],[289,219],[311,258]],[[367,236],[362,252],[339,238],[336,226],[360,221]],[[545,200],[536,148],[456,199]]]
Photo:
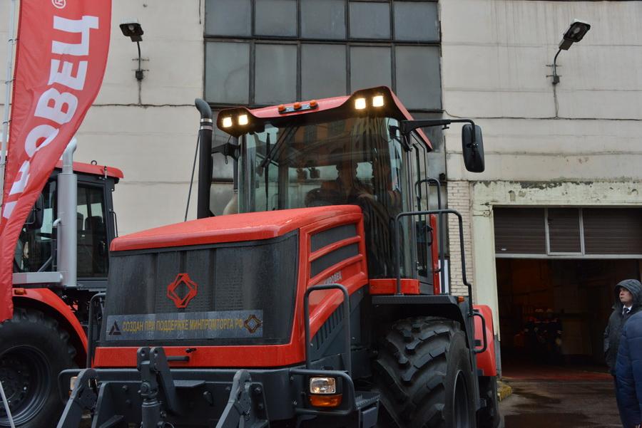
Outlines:
[[628,319],[622,330],[616,360],[616,395],[625,428],[642,422],[642,312]]

